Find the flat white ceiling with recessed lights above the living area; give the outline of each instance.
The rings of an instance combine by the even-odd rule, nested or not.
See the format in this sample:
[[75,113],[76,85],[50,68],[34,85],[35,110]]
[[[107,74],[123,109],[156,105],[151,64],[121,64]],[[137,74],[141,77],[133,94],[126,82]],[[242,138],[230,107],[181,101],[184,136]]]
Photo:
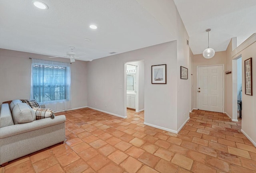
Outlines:
[[48,10],[31,0],[0,0],[0,48],[64,56],[74,46],[86,61],[174,40],[137,0],[42,2]]

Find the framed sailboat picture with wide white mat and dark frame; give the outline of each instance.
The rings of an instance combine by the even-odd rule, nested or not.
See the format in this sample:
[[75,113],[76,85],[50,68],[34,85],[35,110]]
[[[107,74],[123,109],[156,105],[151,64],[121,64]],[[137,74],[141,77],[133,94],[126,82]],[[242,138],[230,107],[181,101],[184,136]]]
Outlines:
[[151,66],[151,83],[166,84],[166,64]]

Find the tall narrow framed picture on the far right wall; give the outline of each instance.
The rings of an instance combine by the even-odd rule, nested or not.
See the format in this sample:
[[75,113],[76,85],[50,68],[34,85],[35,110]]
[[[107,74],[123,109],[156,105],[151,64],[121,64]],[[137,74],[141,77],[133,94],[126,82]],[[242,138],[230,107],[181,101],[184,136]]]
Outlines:
[[244,61],[245,94],[252,96],[252,58]]

